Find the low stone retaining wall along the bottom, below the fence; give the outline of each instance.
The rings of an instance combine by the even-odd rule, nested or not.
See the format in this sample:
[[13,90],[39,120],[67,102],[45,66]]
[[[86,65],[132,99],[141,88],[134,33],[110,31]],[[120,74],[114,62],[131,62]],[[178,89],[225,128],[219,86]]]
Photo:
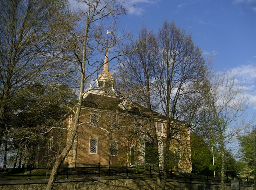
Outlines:
[[[44,190],[48,180],[0,181],[0,190]],[[154,190],[157,188],[154,178],[100,177],[58,179],[54,190]],[[219,190],[220,183],[168,180],[168,190]],[[225,190],[230,190],[226,184]],[[240,190],[253,190],[252,185],[240,184]]]

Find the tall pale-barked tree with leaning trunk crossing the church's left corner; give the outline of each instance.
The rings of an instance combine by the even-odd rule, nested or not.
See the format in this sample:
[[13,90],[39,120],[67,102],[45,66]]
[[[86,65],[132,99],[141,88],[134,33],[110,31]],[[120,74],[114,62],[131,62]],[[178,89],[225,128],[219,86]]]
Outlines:
[[[123,1],[115,0],[83,0],[78,1],[77,12],[70,12],[66,20],[62,20],[59,25],[52,25],[52,55],[54,59],[61,61],[60,67],[66,68],[66,73],[58,73],[58,68],[49,75],[62,77],[71,77],[75,84],[79,85],[78,103],[75,109],[71,109],[74,117],[72,127],[69,130],[66,147],[57,155],[52,173],[46,187],[50,190],[54,186],[58,168],[62,161],[68,155],[72,148],[78,127],[83,123],[78,123],[82,108],[84,94],[86,94],[86,84],[90,78],[95,76],[97,71],[106,63],[98,56],[102,55],[106,49],[106,31],[111,30],[108,37],[108,49],[111,51],[113,58],[120,56],[122,53],[114,54],[114,47],[117,47],[120,39],[124,37],[118,34],[116,19],[124,14],[126,8]],[[111,22],[110,20],[111,19]],[[49,52],[46,56],[50,57]],[[109,59],[111,61],[112,59]],[[65,64],[64,64],[65,63]],[[55,67],[55,65],[52,65]],[[52,71],[52,70],[51,70]],[[72,75],[70,74],[72,73]]]

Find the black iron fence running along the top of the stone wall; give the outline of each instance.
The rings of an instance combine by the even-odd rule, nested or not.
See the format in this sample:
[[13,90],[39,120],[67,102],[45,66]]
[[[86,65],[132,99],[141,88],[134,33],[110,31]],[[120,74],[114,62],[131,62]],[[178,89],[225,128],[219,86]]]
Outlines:
[[[52,168],[16,168],[4,170],[0,174],[0,180],[37,180],[48,179],[52,172]],[[103,177],[103,176],[129,176],[129,177],[149,177],[156,178],[156,171],[152,166],[131,167],[126,166],[86,166],[72,168],[66,165],[58,170],[57,178],[89,178],[89,177]],[[220,182],[220,176],[204,176],[193,173],[178,172],[170,170],[167,174],[168,179],[174,180],[190,180],[201,182]],[[236,178],[241,184],[253,184],[253,179]],[[230,183],[232,178],[226,176],[225,180]]]

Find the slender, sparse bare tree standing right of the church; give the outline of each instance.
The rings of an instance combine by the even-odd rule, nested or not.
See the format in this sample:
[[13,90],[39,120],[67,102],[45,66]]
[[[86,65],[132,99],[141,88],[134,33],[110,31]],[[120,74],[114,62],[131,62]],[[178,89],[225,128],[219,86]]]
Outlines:
[[[246,109],[249,101],[242,95],[242,86],[236,84],[232,73],[216,74],[212,78],[211,90],[206,97],[204,107],[208,122],[205,126],[210,131],[210,138],[216,143],[221,153],[221,188],[225,188],[225,155],[234,138],[245,133],[252,119],[247,119]],[[232,151],[232,150],[230,150]]]

